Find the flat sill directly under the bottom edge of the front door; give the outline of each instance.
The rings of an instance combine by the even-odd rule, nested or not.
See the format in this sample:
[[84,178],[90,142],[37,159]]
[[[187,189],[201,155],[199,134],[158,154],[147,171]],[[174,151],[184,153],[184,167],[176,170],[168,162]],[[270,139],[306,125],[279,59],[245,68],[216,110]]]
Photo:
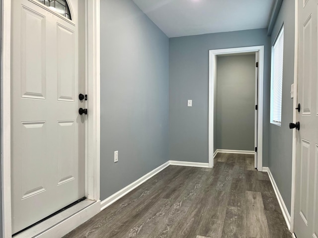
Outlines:
[[51,229],[52,227],[60,224],[61,222],[65,221],[69,217],[79,213],[83,209],[89,207],[90,205],[94,204],[96,201],[85,199],[76,205],[60,212],[53,217],[13,236],[14,238],[25,238],[25,237],[32,237],[36,238],[37,236],[41,235],[42,233],[46,232],[47,230]]

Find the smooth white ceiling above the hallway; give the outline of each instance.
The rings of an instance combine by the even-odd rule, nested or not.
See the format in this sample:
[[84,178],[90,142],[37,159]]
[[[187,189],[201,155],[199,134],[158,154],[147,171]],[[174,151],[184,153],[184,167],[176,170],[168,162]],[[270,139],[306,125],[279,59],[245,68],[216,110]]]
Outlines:
[[266,28],[275,0],[133,0],[168,36]]

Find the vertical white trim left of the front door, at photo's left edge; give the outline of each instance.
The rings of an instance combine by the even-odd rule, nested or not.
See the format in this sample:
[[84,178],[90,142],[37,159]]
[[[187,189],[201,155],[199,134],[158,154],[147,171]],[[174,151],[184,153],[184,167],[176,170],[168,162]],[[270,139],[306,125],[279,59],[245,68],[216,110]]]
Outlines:
[[2,237],[11,238],[11,0],[2,0],[1,28]]

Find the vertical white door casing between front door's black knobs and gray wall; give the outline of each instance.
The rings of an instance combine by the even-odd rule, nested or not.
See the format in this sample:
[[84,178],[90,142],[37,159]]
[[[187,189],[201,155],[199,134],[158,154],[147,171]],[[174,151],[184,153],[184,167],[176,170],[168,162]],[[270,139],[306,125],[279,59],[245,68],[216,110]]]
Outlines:
[[88,119],[86,129],[86,195],[100,199],[100,1],[86,0],[86,90]]

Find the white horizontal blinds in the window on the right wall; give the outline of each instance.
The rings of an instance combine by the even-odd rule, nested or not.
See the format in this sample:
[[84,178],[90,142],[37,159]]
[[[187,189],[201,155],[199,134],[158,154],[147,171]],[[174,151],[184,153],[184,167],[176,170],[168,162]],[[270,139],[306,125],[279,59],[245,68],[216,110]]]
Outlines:
[[282,122],[282,84],[284,58],[284,27],[272,47],[271,123]]

